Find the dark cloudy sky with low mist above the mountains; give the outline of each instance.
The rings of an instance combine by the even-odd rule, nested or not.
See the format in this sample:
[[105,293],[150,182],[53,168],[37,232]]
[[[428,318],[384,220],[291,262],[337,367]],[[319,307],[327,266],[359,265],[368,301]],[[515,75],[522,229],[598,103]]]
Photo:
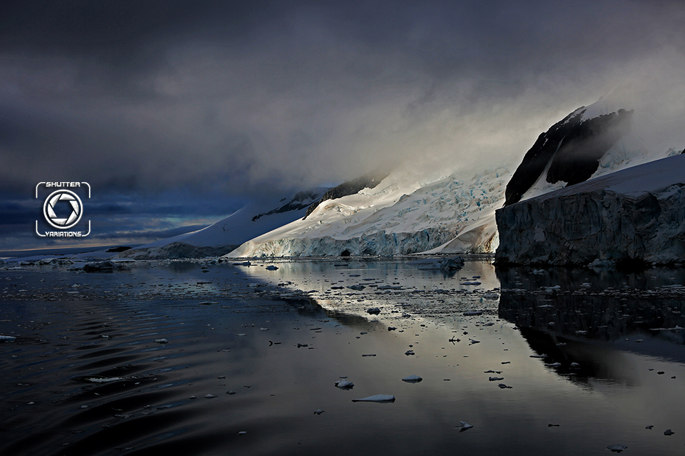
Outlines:
[[[685,112],[680,0],[13,3],[0,251],[144,244],[386,163],[515,167],[617,86],[655,140]],[[44,181],[90,184],[88,238],[35,234]]]

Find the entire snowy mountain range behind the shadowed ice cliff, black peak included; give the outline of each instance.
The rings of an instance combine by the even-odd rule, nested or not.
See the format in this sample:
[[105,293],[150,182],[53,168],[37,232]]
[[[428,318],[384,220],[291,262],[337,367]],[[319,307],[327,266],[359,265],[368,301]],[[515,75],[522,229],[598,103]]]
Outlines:
[[328,191],[243,208],[204,230],[120,256],[494,252],[497,209],[679,152],[647,148],[633,128],[636,114],[610,99],[583,106],[543,132],[513,175],[513,167],[483,166],[427,177],[405,163]]

